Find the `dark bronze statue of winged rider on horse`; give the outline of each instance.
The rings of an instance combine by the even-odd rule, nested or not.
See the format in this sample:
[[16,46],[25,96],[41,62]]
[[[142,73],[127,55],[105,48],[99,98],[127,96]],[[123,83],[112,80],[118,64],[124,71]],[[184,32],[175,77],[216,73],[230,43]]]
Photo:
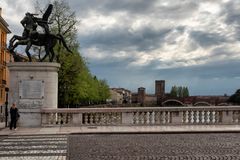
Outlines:
[[[46,54],[43,58],[40,58],[39,61],[43,61],[47,56],[49,61],[52,62],[55,57],[54,46],[57,44],[57,41],[60,41],[68,52],[72,51],[68,48],[63,36],[61,34],[52,34],[49,30],[48,17],[51,15],[53,5],[49,4],[47,10],[43,14],[42,18],[35,17],[36,14],[31,14],[27,12],[21,24],[24,27],[22,36],[14,35],[9,41],[9,51],[13,55],[14,61],[21,61],[19,56],[15,53],[14,49],[19,45],[26,45],[25,52],[28,56],[29,62],[32,62],[32,57],[29,52],[32,45],[43,46]],[[39,33],[37,27],[40,26],[43,28],[44,33]]]

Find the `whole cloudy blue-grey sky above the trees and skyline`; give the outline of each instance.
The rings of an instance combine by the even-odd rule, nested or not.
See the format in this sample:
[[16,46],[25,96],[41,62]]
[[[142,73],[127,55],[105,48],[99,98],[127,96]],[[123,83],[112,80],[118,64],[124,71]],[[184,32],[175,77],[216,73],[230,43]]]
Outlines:
[[[34,2],[0,1],[13,33],[21,34],[19,21]],[[82,56],[111,87],[154,93],[155,80],[166,80],[166,91],[183,85],[191,95],[240,88],[240,0],[67,2],[80,21]]]

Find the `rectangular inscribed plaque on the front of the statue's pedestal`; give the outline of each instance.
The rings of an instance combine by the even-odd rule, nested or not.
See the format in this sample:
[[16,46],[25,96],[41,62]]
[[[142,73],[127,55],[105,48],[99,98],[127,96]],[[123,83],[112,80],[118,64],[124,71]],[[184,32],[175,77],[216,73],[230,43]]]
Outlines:
[[40,80],[21,80],[19,81],[20,99],[43,99],[44,81]]

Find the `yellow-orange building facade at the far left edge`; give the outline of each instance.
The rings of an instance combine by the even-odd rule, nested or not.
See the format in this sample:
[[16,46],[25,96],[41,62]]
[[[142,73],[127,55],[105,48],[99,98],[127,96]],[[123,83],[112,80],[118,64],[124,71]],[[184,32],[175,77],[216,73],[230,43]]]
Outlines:
[[7,63],[11,61],[11,55],[7,50],[7,34],[9,33],[11,31],[2,17],[2,8],[0,8],[0,106],[5,103],[5,88],[9,86],[9,71],[7,69]]

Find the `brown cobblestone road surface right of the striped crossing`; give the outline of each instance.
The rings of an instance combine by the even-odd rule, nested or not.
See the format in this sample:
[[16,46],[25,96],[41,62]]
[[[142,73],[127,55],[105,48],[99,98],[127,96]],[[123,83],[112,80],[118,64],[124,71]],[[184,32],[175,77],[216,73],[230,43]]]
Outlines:
[[69,135],[70,160],[240,160],[240,133]]

